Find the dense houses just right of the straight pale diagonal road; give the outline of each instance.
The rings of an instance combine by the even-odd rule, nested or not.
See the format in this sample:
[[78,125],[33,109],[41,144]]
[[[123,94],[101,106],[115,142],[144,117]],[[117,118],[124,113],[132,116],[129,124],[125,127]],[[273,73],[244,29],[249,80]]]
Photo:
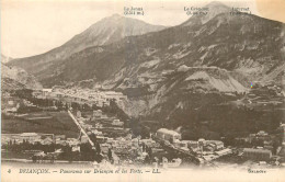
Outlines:
[[[132,134],[122,135],[118,137],[111,137],[109,133],[104,129],[113,130],[124,130],[124,122],[121,122],[116,117],[110,117],[105,115],[101,110],[93,111],[92,115],[82,117],[80,111],[76,114],[77,120],[81,127],[87,132],[88,135],[94,134],[96,136],[96,141],[100,144],[101,152],[103,155],[109,155],[112,151],[112,157],[114,164],[118,163],[133,163],[136,161],[144,161],[147,152],[146,146],[153,149],[159,148],[153,139],[141,139],[139,136],[132,138]],[[87,123],[92,123],[87,124]],[[81,136],[81,143],[88,143],[87,136]],[[144,146],[144,147],[142,147]]]

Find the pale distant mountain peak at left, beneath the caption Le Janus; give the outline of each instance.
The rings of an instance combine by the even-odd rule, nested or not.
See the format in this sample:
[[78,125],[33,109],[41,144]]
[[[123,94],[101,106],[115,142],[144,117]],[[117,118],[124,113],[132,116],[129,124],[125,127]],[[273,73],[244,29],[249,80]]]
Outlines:
[[[43,71],[75,53],[92,46],[107,45],[126,36],[141,35],[163,29],[164,26],[151,25],[139,20],[114,14],[94,23],[57,48],[42,55],[14,59],[10,65],[21,67],[42,80],[48,77],[42,73]],[[101,53],[102,48],[98,48],[96,52]]]

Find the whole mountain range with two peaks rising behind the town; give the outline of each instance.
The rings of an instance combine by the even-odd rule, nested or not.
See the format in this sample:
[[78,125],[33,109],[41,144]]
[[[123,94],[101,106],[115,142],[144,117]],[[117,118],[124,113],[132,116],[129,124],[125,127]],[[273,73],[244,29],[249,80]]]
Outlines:
[[231,15],[219,2],[206,8],[207,15],[173,27],[105,18],[58,48],[9,65],[45,87],[121,91],[128,102],[119,106],[130,116],[180,124],[201,106],[235,99],[253,81],[284,84],[284,23]]

